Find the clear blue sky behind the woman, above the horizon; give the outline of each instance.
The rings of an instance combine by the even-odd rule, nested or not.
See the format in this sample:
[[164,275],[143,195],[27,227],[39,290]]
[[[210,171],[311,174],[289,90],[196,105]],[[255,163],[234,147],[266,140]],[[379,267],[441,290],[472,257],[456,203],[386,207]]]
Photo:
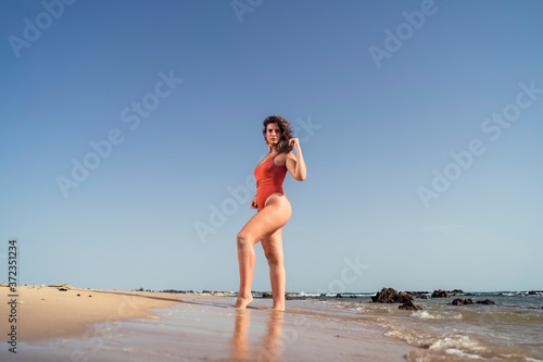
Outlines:
[[237,290],[282,114],[288,291],[541,289],[542,10],[2,0],[0,278],[16,238],[22,284]]

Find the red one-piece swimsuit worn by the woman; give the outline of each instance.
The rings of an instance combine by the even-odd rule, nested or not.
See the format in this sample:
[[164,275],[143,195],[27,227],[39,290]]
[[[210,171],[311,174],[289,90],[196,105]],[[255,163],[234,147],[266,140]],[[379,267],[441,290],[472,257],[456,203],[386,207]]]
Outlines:
[[278,166],[274,163],[277,154],[254,168],[254,177],[256,178],[256,205],[258,210],[264,208],[264,203],[266,203],[268,196],[272,194],[278,192],[285,195],[282,191],[282,182],[287,175],[287,167]]

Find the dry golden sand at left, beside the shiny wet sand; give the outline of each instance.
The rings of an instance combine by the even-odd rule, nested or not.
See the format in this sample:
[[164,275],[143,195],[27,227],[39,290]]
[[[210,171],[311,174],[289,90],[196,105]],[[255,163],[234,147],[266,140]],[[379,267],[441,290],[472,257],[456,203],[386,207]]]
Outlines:
[[[0,287],[0,315],[5,316],[1,325],[10,315],[11,307],[5,302],[11,299],[8,295],[8,287]],[[151,309],[188,302],[181,298],[204,298],[159,291],[73,288],[68,285],[17,286],[17,341],[77,337],[93,324],[156,319]],[[7,323],[5,332],[8,328]],[[1,332],[1,340],[7,341],[7,334]]]

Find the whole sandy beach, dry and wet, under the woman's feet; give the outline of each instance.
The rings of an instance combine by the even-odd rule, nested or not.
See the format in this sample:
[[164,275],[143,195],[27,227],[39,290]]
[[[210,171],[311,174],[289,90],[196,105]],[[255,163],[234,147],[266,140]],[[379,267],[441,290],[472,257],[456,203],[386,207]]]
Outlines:
[[[0,290],[9,300],[8,288]],[[290,301],[277,312],[263,298],[237,310],[232,297],[70,286],[17,290],[16,354],[5,342],[10,304],[0,308],[2,361],[402,361],[416,349],[384,337],[378,325],[312,301]]]

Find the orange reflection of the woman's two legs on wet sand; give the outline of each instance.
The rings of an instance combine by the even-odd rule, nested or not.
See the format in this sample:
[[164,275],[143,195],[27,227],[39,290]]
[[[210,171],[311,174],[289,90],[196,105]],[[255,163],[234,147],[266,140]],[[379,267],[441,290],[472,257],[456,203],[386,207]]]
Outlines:
[[[282,311],[269,311],[267,333],[262,341],[262,345],[256,348],[256,361],[281,361],[280,357],[285,348],[281,338],[283,314],[285,312]],[[236,324],[231,339],[231,354],[236,359],[251,359],[251,348],[248,342],[250,322],[251,310],[236,309]]]

